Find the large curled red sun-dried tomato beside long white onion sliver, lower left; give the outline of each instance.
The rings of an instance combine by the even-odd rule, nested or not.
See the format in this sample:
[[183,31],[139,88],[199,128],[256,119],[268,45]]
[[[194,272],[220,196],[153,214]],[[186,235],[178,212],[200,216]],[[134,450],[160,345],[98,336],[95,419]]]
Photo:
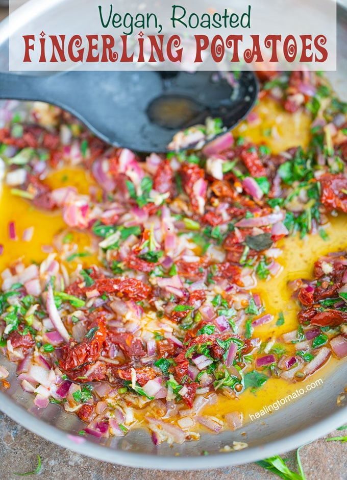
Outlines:
[[63,353],[59,362],[61,368],[70,370],[97,360],[106,339],[105,318],[101,317],[93,322],[89,332],[93,332],[91,338],[85,337],[79,344],[72,341],[63,346]]

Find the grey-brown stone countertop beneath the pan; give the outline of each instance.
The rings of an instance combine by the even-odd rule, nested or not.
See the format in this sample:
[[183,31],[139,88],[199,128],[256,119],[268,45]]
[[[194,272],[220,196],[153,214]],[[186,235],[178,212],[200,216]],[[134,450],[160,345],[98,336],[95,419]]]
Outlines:
[[[6,8],[0,8],[0,20],[7,15]],[[329,437],[341,436],[341,431],[332,432]],[[327,437],[326,437],[327,438]],[[346,480],[347,445],[316,440],[301,450],[301,459],[307,480]],[[15,480],[13,472],[31,472],[37,467],[40,454],[42,467],[39,477],[45,480],[267,480],[279,478],[256,464],[225,467],[213,470],[165,472],[122,467],[84,457],[66,450],[32,434],[0,413],[0,478]],[[296,469],[295,452],[284,455],[289,458],[288,466]],[[33,478],[33,477],[31,477]]]

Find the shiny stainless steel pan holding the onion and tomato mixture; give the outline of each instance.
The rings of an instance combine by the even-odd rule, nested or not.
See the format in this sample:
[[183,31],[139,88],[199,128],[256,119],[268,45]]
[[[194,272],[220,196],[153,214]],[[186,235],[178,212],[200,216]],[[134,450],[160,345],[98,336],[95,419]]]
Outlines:
[[[64,0],[61,3],[64,4]],[[36,6],[40,4],[49,8],[47,2],[34,2]],[[344,95],[347,84],[346,7],[338,7],[338,71],[331,74],[335,88]],[[40,9],[32,9],[30,15],[40,15]],[[27,17],[28,11],[23,10],[21,20],[25,22]],[[0,24],[0,70],[7,69],[7,36],[8,22],[5,20]],[[0,108],[1,105],[3,103]],[[122,438],[101,441],[88,438],[81,439],[83,443],[76,443],[71,435],[76,435],[83,428],[82,422],[64,413],[57,405],[50,404],[47,409],[38,410],[33,406],[33,397],[24,393],[16,381],[15,366],[3,358],[0,362],[9,369],[11,382],[10,389],[0,392],[0,409],[4,413],[47,440],[96,459],[122,465],[188,470],[243,464],[298,447],[347,422],[347,405],[338,406],[336,403],[338,395],[347,385],[347,362],[341,361],[340,367],[329,378],[322,374],[324,383],[321,387],[236,432],[218,436],[203,434],[199,442],[187,442],[172,448],[167,444],[154,446],[150,437],[140,430]],[[245,435],[241,435],[243,432]],[[247,442],[249,447],[229,453],[219,451],[225,445],[232,445],[233,441]],[[202,455],[203,450],[210,454]]]

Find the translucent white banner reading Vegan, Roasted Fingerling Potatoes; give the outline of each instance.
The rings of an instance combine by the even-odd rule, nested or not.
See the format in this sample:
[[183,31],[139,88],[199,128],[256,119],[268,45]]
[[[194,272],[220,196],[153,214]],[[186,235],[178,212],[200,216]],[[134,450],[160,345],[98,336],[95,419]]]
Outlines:
[[336,70],[336,0],[10,0],[10,70]]

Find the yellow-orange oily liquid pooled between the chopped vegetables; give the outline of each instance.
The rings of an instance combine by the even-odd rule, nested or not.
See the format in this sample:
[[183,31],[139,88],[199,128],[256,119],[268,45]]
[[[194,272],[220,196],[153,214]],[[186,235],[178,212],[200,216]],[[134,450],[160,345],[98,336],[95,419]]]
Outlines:
[[[250,126],[246,122],[242,122],[235,129],[236,135],[250,138],[255,143],[264,142],[275,153],[296,145],[307,147],[309,142],[309,115],[302,112],[297,112],[294,115],[289,114],[268,99],[262,100],[254,111],[258,113],[260,123]],[[266,131],[269,129],[272,129],[275,136],[267,136]],[[45,182],[52,188],[67,185],[76,186],[81,194],[87,194],[89,186],[93,183],[90,175],[79,167],[55,172]],[[4,245],[4,253],[0,256],[0,271],[3,271],[20,257],[23,258],[25,263],[30,263],[32,260],[42,261],[47,256],[41,250],[42,245],[51,245],[55,235],[67,231],[61,218],[61,212],[36,210],[26,200],[13,197],[6,186],[3,186],[3,189],[0,190],[0,195],[0,211],[2,212],[0,244]],[[10,221],[15,221],[17,241],[9,240],[8,223]],[[30,243],[23,242],[21,240],[22,232],[31,226],[35,229],[33,239]],[[283,249],[282,255],[278,258],[283,266],[282,272],[277,278],[259,282],[257,288],[254,289],[254,292],[261,295],[265,311],[274,316],[274,321],[256,327],[254,330],[255,337],[267,341],[272,337],[280,337],[284,332],[296,329],[298,307],[290,298],[287,282],[299,277],[309,278],[312,275],[313,263],[319,256],[347,248],[347,237],[341,235],[341,232],[347,231],[347,215],[340,214],[337,218],[331,218],[330,225],[326,230],[329,234],[329,241],[327,242],[324,242],[319,235],[312,235],[305,239],[299,239],[299,237],[286,238],[279,244],[279,247]],[[73,232],[73,242],[78,243],[80,252],[88,251],[91,238],[87,233]],[[87,265],[96,262],[95,256],[83,258],[83,263]],[[67,264],[67,266],[72,269],[73,262],[71,264]],[[285,323],[278,327],[276,326],[276,320],[280,311],[283,311]],[[223,418],[226,413],[236,411],[243,414],[245,422],[249,421],[249,415],[260,412],[264,406],[285,398],[286,395],[295,392],[296,389],[305,389],[307,383],[319,378],[324,381],[329,371],[336,368],[338,364],[339,362],[336,359],[330,358],[323,368],[301,382],[288,383],[283,379],[270,378],[257,392],[242,392],[239,398],[234,400],[218,395],[217,405],[207,407],[204,413]],[[319,388],[317,387],[317,389]],[[141,414],[136,413],[136,418],[141,421]]]

